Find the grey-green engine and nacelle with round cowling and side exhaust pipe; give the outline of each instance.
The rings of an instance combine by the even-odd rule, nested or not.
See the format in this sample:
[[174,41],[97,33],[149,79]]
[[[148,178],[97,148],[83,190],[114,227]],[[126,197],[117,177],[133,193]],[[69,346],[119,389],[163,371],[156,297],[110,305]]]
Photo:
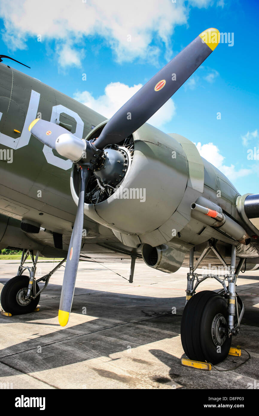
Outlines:
[[[86,140],[94,143],[106,123]],[[205,165],[195,144],[183,136],[165,134],[146,123],[123,141],[106,145],[97,160],[86,188],[84,214],[110,228],[123,245],[142,247],[148,266],[175,272],[193,244],[212,236],[249,245],[243,227],[216,203],[217,188],[214,193],[211,188],[204,192]],[[70,186],[78,205],[80,166],[76,163]],[[209,199],[202,196],[205,193]]]

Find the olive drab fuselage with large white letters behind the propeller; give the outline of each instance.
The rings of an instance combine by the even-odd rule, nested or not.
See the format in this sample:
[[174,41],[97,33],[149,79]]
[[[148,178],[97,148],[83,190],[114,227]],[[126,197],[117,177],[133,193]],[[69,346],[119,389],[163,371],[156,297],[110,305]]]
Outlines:
[[[62,234],[67,250],[76,214],[69,186],[72,162],[31,136],[28,127],[33,119],[42,118],[84,138],[106,118],[5,64],[0,64],[0,81],[0,214],[40,223],[44,233],[32,237],[43,245],[53,246],[46,230]],[[215,167],[204,159],[203,163],[203,196],[242,222],[236,209],[238,191]],[[84,227],[92,245],[106,243],[120,250],[121,243],[109,228],[90,218],[85,218]],[[186,232],[191,240],[192,233],[188,228],[183,235]]]

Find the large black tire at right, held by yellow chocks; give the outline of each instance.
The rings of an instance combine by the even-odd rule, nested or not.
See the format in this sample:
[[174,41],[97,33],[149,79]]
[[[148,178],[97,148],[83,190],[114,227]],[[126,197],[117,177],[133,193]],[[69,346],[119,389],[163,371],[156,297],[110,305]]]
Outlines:
[[217,364],[227,357],[232,336],[222,337],[220,349],[212,339],[212,322],[217,314],[227,322],[227,301],[215,292],[203,290],[188,300],[181,321],[181,341],[190,359]]

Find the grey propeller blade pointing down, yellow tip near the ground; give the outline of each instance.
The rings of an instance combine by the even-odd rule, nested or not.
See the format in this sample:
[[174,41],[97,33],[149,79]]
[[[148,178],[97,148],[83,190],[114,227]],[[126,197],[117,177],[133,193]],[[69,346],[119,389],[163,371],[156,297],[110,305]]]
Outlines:
[[91,171],[83,166],[80,171],[80,193],[76,212],[76,220],[69,244],[66,268],[62,285],[62,292],[59,304],[59,324],[64,327],[69,320],[69,314],[73,302],[76,283],[76,273],[79,263],[79,256],[82,242],[82,230],[84,223],[84,194],[89,181]]

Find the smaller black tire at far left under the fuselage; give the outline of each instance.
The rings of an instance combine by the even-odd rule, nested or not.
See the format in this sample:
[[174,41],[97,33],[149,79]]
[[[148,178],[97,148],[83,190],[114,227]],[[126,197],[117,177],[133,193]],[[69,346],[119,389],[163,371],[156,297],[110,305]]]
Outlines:
[[[31,299],[24,305],[21,304],[22,301],[19,301],[19,292],[29,285],[30,278],[24,275],[15,276],[12,279],[8,280],[5,283],[5,286],[2,288],[1,292],[1,305],[5,312],[9,312],[12,315],[20,315],[25,313],[30,313],[35,310],[39,303],[40,295],[36,299]],[[39,286],[36,283],[36,293],[39,291]],[[20,292],[21,294],[22,292]],[[35,295],[35,294],[34,294]],[[19,302],[19,303],[18,303]]]

